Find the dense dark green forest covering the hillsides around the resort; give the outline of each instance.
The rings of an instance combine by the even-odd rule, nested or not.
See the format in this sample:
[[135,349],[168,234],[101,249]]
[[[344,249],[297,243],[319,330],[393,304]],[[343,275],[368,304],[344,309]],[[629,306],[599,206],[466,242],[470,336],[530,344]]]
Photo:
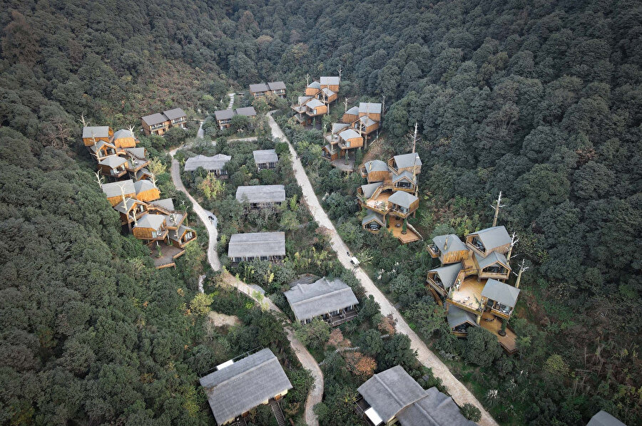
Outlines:
[[[488,205],[504,193],[501,223],[531,266],[520,319],[533,341],[522,342],[520,362],[561,360],[551,367],[554,393],[521,395],[532,406],[516,424],[577,425],[593,405],[639,424],[639,2],[1,7],[1,422],[208,418],[180,408],[203,405],[188,393],[198,368],[183,349],[204,338],[202,318],[181,311],[193,277],[151,269],[144,247],[118,233],[78,147],[79,115],[117,128],[173,106],[193,115],[223,107],[230,87],[285,80],[294,93],[308,73],[341,67],[342,95],[384,99],[389,153],[407,152],[419,124],[424,237],[488,225]],[[333,188],[347,187],[331,177]],[[354,199],[340,196],[333,219],[356,213]],[[414,262],[407,276],[419,280],[427,265]]]

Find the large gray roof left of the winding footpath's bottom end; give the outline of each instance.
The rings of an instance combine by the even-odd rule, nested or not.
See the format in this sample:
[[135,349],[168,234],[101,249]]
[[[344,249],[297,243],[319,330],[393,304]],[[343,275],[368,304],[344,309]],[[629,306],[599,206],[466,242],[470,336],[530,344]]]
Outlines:
[[262,349],[198,380],[219,425],[292,389],[279,360]]

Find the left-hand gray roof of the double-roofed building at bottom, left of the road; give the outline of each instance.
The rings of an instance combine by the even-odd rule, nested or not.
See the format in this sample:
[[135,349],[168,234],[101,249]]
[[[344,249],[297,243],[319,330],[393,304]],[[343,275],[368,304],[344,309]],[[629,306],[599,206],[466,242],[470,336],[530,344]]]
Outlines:
[[424,388],[401,365],[373,375],[357,391],[384,422],[426,395]]

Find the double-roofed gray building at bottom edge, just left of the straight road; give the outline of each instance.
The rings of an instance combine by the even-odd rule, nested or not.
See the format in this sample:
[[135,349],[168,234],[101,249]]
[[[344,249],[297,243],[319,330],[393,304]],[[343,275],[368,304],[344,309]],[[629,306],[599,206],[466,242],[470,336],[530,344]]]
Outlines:
[[401,365],[373,375],[357,392],[357,412],[370,426],[476,426],[437,388],[422,388]]

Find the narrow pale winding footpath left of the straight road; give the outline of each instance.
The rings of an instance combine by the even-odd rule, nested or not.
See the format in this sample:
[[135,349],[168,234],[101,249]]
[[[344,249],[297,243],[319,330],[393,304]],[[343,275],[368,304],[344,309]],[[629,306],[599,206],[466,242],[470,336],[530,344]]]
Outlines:
[[[201,126],[203,123],[201,123]],[[198,137],[203,138],[203,130],[202,128],[198,129]],[[180,165],[178,165],[178,160],[175,160],[174,155],[176,151],[179,148],[175,148],[174,150],[171,150],[169,152],[170,156],[172,157],[172,167],[171,167],[171,175],[172,175],[172,181],[174,182],[174,186],[176,189],[178,189],[180,192],[183,192],[188,199],[193,204],[193,209],[194,212],[198,215],[200,218],[200,221],[203,222],[205,225],[205,229],[208,231],[208,236],[209,236],[209,241],[208,241],[208,262],[212,269],[214,271],[220,271],[220,261],[218,259],[218,253],[216,252],[216,241],[218,239],[218,230],[216,229],[215,224],[210,220],[209,215],[210,212],[207,210],[203,209],[203,207],[200,207],[200,204],[190,195],[187,189],[185,189],[185,185],[183,185],[183,181],[180,180]],[[244,283],[243,281],[240,281],[237,279],[235,276],[232,276],[229,274],[227,271],[224,272],[223,274],[223,279],[225,280],[226,284],[229,284],[230,286],[235,287],[238,291],[241,293],[245,293],[247,296],[252,298],[254,301],[259,303],[261,306],[265,306],[270,309],[270,311],[274,311],[277,313],[281,313],[280,309],[272,303],[272,301],[267,298],[263,297],[260,295],[253,286],[249,286],[248,284]],[[199,279],[199,291],[203,292],[203,283]],[[319,364],[317,364],[317,361],[315,358],[310,354],[310,352],[307,351],[305,346],[295,337],[294,335],[294,330],[292,329],[291,326],[286,326],[285,331],[287,333],[287,340],[290,341],[290,346],[292,346],[292,350],[294,350],[295,355],[297,355],[297,358],[303,368],[306,370],[309,370],[310,373],[312,373],[312,378],[314,378],[315,382],[310,390],[310,393],[307,395],[307,400],[305,401],[305,424],[308,426],[319,426],[319,420],[317,419],[317,415],[315,415],[315,412],[313,411],[313,408],[315,405],[317,405],[319,402],[321,402],[321,399],[323,397],[323,373],[321,371],[321,368],[319,368]]]

